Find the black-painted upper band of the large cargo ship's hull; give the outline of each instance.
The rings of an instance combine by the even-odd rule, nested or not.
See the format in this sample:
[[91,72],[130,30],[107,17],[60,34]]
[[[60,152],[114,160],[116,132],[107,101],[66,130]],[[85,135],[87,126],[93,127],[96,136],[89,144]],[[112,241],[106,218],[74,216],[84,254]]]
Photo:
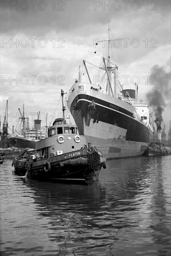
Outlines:
[[[82,99],[86,100],[82,100]],[[99,102],[99,105],[95,105],[95,109],[89,109],[89,101]],[[140,121],[137,121],[133,118],[132,113],[128,113],[129,115],[123,115],[121,112],[116,112],[114,109],[107,109],[104,106],[104,102],[100,99],[91,97],[86,94],[79,94],[76,96],[75,101],[78,101],[78,109],[74,110],[74,102],[71,104],[70,111],[73,114],[74,120],[81,119],[81,122],[77,122],[76,125],[78,127],[78,131],[80,135],[84,135],[84,121],[85,126],[89,126],[90,120],[93,119],[93,123],[99,123],[100,121],[109,125],[114,125],[127,130],[126,140],[127,141],[139,141],[149,143],[153,134],[150,132],[149,128],[146,127]]]

